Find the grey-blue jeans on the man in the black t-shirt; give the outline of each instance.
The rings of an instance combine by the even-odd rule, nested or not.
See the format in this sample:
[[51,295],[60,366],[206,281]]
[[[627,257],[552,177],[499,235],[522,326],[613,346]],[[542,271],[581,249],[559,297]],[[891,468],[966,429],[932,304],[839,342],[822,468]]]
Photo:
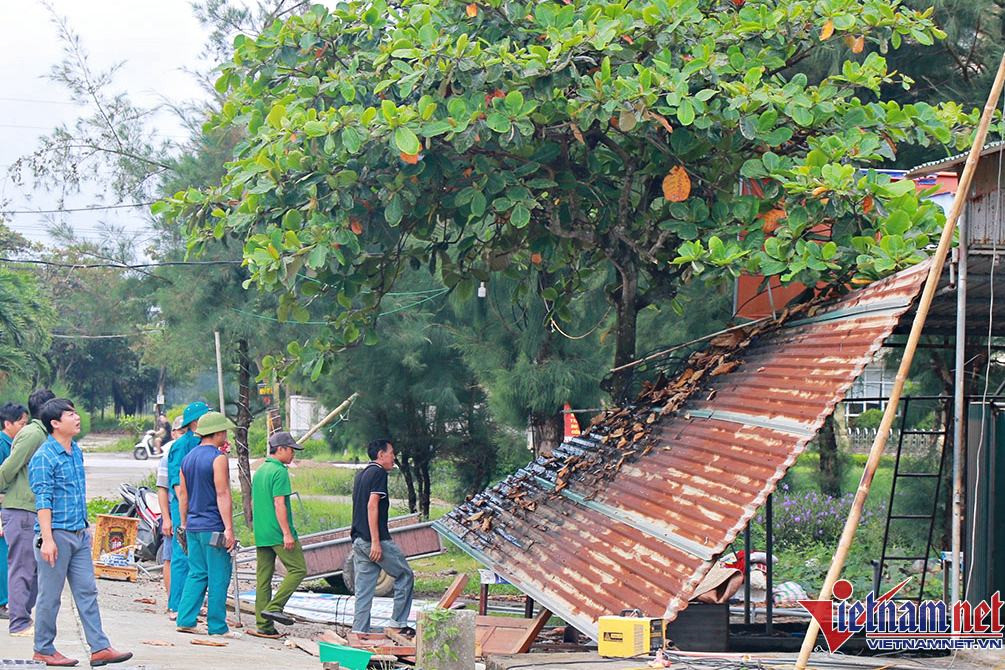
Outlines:
[[412,611],[412,592],[415,576],[408,566],[405,554],[389,539],[380,543],[381,559],[378,563],[370,560],[370,542],[357,537],[353,540],[353,564],[356,568],[356,614],[353,630],[357,633],[370,632],[370,609],[377,590],[380,571],[394,578],[394,613],[391,628],[408,625],[408,614]]

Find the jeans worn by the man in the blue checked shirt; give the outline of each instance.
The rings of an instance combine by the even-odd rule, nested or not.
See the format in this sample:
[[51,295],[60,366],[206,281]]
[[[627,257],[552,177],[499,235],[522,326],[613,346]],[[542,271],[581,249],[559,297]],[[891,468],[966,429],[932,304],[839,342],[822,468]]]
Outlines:
[[102,613],[97,609],[97,585],[94,583],[94,566],[90,560],[90,533],[86,530],[53,530],[56,542],[56,565],[49,566],[35,547],[38,562],[38,602],[35,604],[35,651],[51,655],[56,648],[56,617],[63,585],[69,582],[73,603],[80,615],[83,635],[90,653],[108,649],[109,643],[102,630]]

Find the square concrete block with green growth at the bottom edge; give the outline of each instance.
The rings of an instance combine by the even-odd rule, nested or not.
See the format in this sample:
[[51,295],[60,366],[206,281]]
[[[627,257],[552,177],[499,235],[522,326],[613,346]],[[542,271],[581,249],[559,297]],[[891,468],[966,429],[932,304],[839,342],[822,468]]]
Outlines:
[[427,610],[419,614],[416,667],[422,670],[474,668],[474,610]]

